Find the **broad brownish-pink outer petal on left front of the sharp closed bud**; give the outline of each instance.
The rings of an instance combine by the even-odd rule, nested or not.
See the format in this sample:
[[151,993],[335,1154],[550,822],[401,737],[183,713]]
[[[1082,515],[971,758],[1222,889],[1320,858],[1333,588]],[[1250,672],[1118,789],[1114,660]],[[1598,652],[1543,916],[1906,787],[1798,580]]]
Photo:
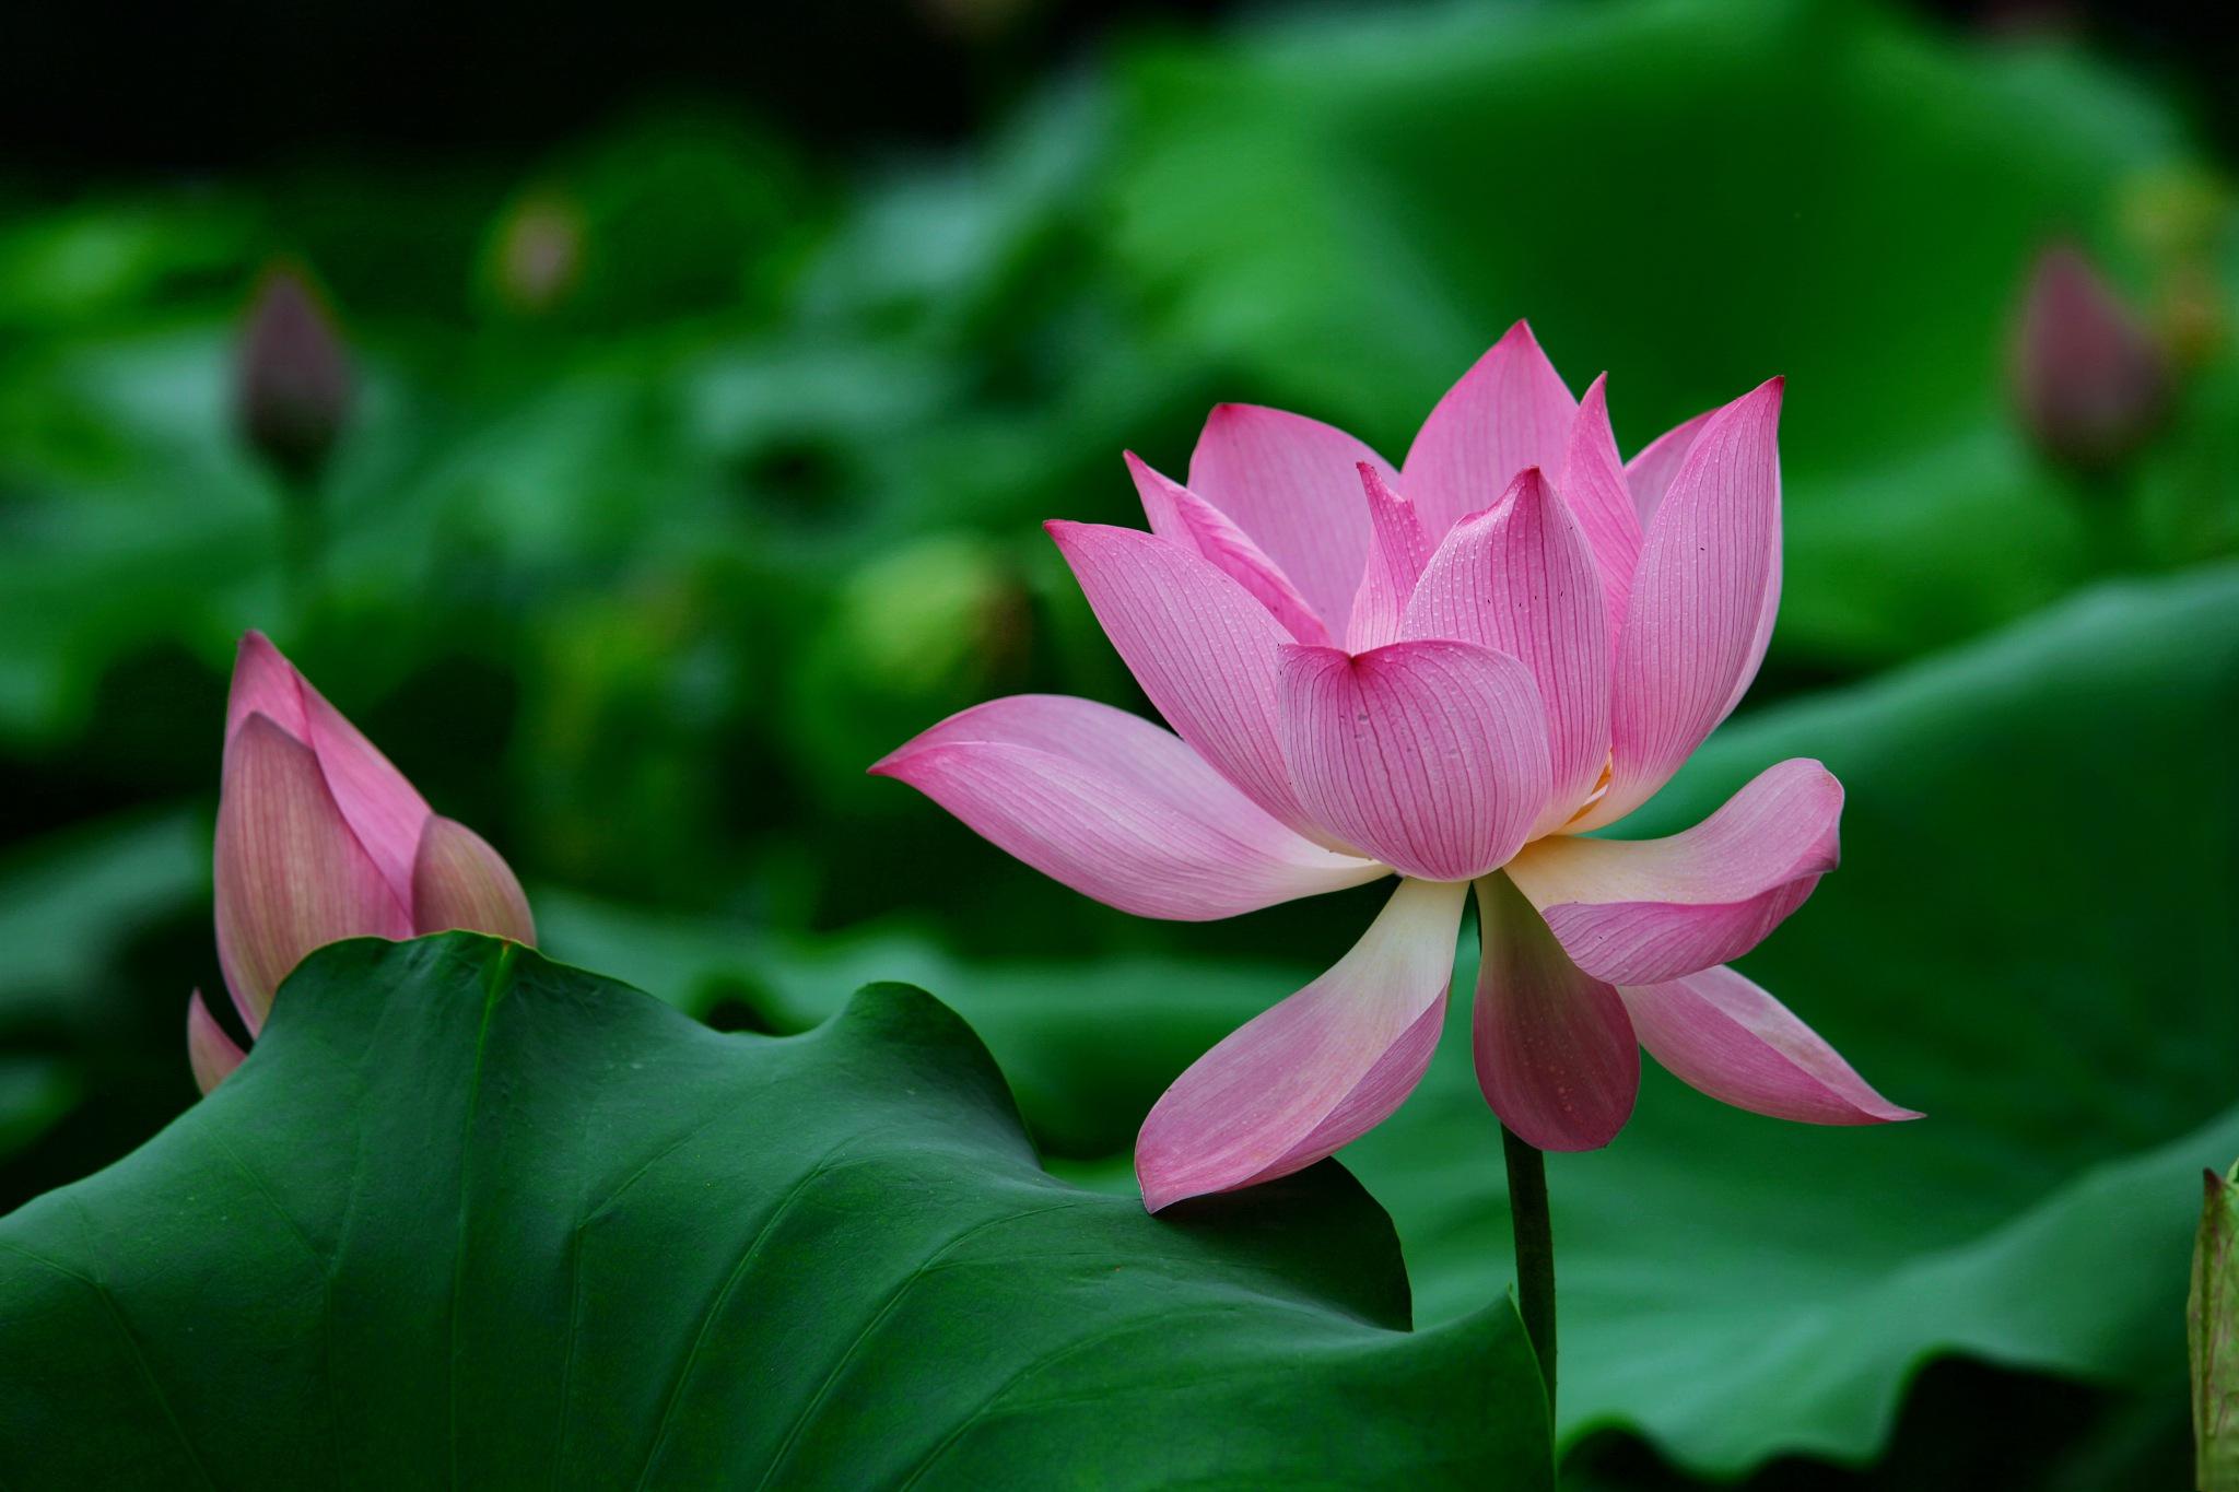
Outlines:
[[367,935],[410,937],[412,919],[349,832],[311,747],[249,716],[217,801],[217,962],[249,1031],[305,953]]

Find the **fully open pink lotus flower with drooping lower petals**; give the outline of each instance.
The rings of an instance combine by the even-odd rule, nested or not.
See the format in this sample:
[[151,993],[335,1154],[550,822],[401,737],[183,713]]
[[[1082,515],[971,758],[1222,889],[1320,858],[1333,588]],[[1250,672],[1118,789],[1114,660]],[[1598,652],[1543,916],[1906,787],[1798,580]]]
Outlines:
[[1173,731],[1057,696],[952,716],[875,767],[1037,870],[1144,917],[1231,917],[1397,872],[1325,975],[1144,1121],[1153,1212],[1290,1174],[1431,1060],[1476,886],[1484,1098],[1540,1150],[1608,1145],[1648,1047],[1713,1098],[1917,1118],[1724,969],[1836,866],[1843,787],[1767,767],[1684,834],[1581,839],[1733,711],[1780,599],[1780,380],[1630,463],[1518,322],[1393,470],[1276,409],[1214,409],[1151,532],[1050,523]]

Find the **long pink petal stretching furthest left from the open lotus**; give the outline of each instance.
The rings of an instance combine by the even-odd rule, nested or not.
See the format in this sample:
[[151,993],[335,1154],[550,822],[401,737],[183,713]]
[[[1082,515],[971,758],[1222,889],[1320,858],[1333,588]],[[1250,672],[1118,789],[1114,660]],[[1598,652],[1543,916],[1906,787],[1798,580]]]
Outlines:
[[1234,917],[1386,875],[1283,828],[1173,734],[1090,700],[1025,693],[974,705],[871,772],[1137,917]]

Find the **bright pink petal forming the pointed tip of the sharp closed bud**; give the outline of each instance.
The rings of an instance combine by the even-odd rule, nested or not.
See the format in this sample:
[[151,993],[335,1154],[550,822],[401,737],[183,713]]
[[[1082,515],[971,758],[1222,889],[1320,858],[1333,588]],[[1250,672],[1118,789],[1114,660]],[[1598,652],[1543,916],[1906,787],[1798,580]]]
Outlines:
[[251,714],[264,714],[282,731],[318,752],[327,787],[358,843],[374,857],[399,901],[412,897],[412,857],[419,852],[428,801],[405,774],[343,718],[296,664],[280,655],[264,633],[242,638],[233,664],[233,696],[226,700],[226,740]]

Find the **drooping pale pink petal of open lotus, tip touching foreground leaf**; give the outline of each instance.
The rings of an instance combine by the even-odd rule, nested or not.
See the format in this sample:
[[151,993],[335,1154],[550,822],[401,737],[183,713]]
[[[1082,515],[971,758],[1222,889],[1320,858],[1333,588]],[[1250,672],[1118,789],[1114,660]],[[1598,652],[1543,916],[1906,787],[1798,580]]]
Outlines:
[[1402,881],[1325,975],[1231,1031],[1151,1107],[1151,1212],[1274,1181],[1359,1139],[1422,1080],[1446,1013],[1462,886]]

